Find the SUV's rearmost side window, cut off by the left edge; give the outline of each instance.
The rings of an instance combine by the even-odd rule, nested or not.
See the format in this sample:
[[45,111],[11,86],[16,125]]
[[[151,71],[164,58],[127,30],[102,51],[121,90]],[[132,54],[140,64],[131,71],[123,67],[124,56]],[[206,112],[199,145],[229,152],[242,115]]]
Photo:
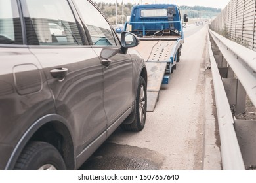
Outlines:
[[0,44],[23,44],[16,1],[0,0]]

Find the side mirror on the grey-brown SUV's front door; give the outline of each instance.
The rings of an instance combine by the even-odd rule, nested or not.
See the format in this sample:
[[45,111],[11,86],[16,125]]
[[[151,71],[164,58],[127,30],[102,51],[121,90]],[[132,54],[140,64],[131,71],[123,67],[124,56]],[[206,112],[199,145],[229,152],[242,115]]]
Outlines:
[[127,53],[128,48],[133,48],[140,43],[137,35],[130,32],[121,33],[121,51],[123,54]]

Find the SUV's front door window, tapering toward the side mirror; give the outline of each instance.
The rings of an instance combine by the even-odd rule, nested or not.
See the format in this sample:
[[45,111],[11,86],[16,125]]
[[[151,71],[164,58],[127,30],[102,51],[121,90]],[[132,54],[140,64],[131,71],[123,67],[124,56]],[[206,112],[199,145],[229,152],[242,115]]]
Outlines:
[[104,16],[102,16],[102,14],[89,1],[75,0],[75,3],[81,10],[79,14],[89,31],[93,45],[119,45],[119,41],[116,35],[114,35],[110,24],[108,24]]

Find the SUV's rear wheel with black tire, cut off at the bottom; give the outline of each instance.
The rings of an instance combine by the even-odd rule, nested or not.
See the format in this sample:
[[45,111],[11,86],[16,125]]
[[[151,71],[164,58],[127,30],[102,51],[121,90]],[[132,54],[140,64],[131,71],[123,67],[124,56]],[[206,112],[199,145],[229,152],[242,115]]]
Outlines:
[[14,167],[16,170],[66,169],[58,150],[47,142],[29,142]]

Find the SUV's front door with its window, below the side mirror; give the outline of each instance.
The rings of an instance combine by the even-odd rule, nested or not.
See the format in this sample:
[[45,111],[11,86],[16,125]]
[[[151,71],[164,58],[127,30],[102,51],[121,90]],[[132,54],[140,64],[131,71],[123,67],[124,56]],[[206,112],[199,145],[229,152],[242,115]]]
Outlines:
[[[102,63],[104,75],[104,108],[108,118],[109,128],[116,122],[112,130],[116,129],[131,113],[134,101],[133,91],[133,65],[129,54],[120,54],[110,58],[102,58],[102,50],[110,48],[120,49],[121,45],[111,25],[100,11],[89,1],[74,0],[75,6],[79,7],[79,16],[83,26],[87,29],[89,42],[98,54]],[[78,8],[77,8],[78,9]]]

